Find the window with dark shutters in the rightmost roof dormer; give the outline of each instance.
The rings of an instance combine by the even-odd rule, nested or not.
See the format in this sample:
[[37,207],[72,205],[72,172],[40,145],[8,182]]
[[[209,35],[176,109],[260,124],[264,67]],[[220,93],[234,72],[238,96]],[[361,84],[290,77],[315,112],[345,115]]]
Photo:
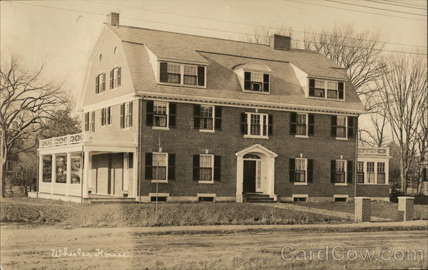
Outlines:
[[310,97],[343,100],[344,92],[344,83],[342,81],[309,79]]

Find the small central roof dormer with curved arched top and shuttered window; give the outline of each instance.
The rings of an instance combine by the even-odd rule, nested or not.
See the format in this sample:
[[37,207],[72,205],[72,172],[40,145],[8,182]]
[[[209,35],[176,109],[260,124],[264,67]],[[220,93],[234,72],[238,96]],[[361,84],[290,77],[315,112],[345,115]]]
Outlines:
[[270,73],[272,71],[265,64],[251,62],[234,66],[232,69],[238,76],[244,92],[269,93]]

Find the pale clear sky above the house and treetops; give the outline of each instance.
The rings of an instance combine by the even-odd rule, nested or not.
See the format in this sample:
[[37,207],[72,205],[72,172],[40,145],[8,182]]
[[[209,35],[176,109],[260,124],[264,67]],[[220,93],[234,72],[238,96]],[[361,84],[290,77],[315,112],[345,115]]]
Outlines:
[[0,1],[2,61],[13,54],[28,68],[44,64],[46,78],[64,81],[77,98],[89,50],[110,12],[121,14],[121,25],[240,41],[254,25],[291,27],[301,39],[298,31],[352,24],[379,33],[381,41],[413,45],[387,44],[387,50],[427,53],[426,0],[51,0]]

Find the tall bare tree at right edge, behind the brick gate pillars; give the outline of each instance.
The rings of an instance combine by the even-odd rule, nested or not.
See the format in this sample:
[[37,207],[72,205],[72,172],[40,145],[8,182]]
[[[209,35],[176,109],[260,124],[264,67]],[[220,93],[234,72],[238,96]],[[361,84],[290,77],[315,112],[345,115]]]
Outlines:
[[427,62],[422,57],[390,56],[382,70],[376,85],[399,156],[402,192],[407,192],[409,170],[427,117]]

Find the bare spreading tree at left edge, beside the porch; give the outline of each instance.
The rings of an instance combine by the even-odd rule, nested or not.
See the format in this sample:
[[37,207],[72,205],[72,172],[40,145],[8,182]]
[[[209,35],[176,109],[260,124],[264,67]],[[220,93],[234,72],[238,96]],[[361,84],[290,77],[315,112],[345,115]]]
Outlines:
[[1,197],[6,192],[9,155],[34,149],[43,120],[51,118],[67,102],[62,83],[45,81],[43,68],[42,65],[38,71],[30,72],[22,69],[13,57],[0,66]]

